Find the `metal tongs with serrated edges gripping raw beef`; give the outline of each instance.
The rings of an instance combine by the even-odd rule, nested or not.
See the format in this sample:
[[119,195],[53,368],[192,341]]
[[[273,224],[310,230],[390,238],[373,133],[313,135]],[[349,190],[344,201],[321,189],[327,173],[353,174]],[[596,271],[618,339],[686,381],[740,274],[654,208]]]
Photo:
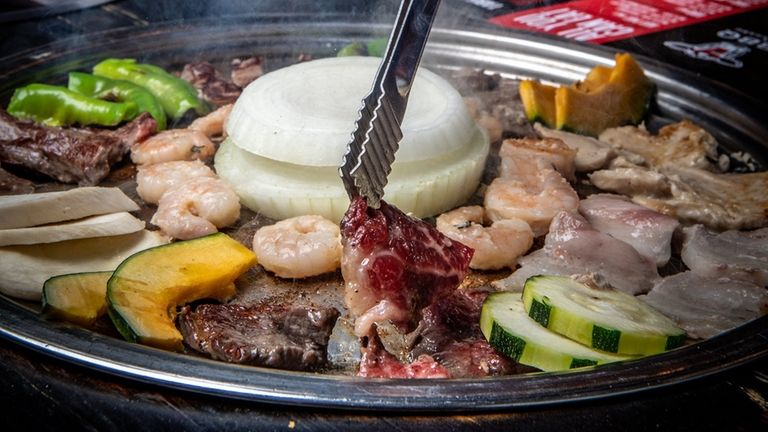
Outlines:
[[403,132],[411,84],[440,0],[403,0],[371,92],[363,99],[352,140],[339,167],[350,199],[379,207]]

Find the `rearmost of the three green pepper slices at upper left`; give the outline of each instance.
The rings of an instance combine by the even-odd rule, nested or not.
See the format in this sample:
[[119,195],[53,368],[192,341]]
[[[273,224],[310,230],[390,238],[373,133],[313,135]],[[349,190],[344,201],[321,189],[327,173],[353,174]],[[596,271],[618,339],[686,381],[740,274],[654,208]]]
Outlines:
[[197,90],[192,84],[155,65],[136,63],[135,59],[110,58],[94,66],[93,74],[130,81],[144,87],[157,98],[168,117],[173,119],[180,118],[190,109],[198,114],[208,111],[207,106],[197,97]]

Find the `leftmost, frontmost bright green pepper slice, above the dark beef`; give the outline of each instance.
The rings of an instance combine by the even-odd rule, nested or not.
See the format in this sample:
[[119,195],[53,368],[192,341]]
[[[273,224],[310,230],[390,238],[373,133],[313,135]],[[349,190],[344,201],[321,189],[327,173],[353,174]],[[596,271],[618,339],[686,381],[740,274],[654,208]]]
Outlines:
[[115,126],[136,116],[132,102],[108,102],[84,96],[66,87],[29,84],[16,89],[8,113],[49,126]]

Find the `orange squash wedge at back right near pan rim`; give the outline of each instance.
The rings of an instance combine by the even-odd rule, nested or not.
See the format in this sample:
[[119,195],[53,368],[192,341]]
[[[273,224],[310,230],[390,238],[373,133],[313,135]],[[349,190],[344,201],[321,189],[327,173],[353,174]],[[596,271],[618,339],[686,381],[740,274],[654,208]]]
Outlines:
[[583,81],[553,87],[523,80],[520,97],[531,122],[583,135],[638,124],[648,112],[654,85],[629,54],[617,54],[612,68],[595,66]]

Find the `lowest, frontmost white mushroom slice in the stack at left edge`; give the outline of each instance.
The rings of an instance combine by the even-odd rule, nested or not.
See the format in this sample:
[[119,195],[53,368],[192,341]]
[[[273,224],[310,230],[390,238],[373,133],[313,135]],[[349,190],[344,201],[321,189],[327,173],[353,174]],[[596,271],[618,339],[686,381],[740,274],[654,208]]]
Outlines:
[[40,300],[43,283],[53,276],[112,271],[130,255],[168,241],[158,231],[142,230],[121,236],[0,247],[0,292]]

